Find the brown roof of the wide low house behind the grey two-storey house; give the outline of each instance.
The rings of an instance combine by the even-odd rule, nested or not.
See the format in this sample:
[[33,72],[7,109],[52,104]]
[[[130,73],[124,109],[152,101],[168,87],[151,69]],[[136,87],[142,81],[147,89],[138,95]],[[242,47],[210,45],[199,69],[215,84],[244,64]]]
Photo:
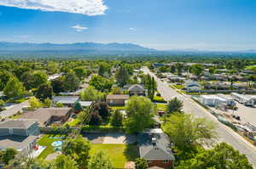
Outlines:
[[52,116],[65,116],[71,108],[40,108],[34,111],[27,111],[22,115],[24,119],[34,119],[39,123],[44,124],[49,121]]

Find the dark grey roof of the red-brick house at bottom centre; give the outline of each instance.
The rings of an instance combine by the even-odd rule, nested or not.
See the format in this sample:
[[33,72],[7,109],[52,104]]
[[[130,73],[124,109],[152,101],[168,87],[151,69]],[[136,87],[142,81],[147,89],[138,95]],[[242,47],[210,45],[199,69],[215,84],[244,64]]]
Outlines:
[[[139,134],[140,157],[146,160],[175,160],[170,141],[165,133],[146,133]],[[152,142],[155,138],[155,144]]]

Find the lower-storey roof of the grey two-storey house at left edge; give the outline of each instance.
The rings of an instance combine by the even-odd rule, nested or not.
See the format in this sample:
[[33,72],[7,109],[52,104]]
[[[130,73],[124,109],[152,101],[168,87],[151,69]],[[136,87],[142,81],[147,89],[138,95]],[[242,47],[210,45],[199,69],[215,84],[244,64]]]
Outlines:
[[0,149],[14,148],[22,150],[36,138],[37,136],[0,136]]

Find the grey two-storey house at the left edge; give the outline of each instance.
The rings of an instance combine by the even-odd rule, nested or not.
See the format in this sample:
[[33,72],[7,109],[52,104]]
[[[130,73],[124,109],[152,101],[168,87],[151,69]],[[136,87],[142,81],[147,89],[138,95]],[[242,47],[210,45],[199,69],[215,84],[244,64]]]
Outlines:
[[27,155],[36,145],[40,130],[35,120],[7,120],[0,123],[0,149],[14,148]]

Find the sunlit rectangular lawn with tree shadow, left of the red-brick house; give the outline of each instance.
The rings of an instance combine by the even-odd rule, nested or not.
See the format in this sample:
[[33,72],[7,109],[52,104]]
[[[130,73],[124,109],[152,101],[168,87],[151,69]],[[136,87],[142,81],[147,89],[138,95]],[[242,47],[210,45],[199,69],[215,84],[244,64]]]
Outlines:
[[139,157],[137,145],[132,144],[92,144],[90,156],[99,150],[108,155],[114,168],[124,168],[125,162],[134,161]]

